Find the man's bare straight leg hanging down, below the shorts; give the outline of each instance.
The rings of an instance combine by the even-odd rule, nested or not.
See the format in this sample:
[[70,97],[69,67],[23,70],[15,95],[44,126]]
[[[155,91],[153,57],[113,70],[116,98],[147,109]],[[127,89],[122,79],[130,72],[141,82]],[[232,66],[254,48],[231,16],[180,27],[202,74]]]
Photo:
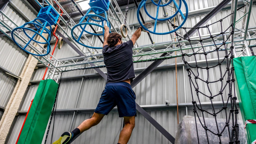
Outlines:
[[119,140],[118,140],[119,144],[128,143],[131,137],[131,132],[135,126],[135,116],[129,116],[129,117],[124,116],[124,123],[125,123],[125,126],[119,135]]

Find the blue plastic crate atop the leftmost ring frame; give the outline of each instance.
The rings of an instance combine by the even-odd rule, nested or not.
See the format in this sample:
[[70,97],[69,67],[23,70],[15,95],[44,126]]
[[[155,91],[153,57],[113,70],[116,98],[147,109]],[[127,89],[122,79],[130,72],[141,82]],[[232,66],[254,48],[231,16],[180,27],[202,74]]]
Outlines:
[[37,17],[45,19],[51,25],[55,25],[59,18],[59,13],[51,5],[48,5],[40,9]]

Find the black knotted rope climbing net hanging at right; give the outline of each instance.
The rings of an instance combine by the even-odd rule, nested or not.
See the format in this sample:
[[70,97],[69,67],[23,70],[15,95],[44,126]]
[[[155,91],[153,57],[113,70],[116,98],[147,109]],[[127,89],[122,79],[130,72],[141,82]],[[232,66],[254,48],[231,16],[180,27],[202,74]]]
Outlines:
[[[232,15],[232,14],[233,13],[231,13],[230,15]],[[229,17],[230,15],[226,16],[225,18]],[[223,19],[225,19],[225,18],[223,18]],[[187,33],[188,29],[189,30],[190,29],[196,29],[196,31],[198,33],[198,36],[199,36],[199,39],[197,39],[197,40],[191,40],[190,38],[184,38],[179,33],[175,32],[178,43],[179,43],[178,47],[180,47],[180,50],[181,50],[181,53],[182,53],[182,60],[185,64],[185,66],[186,66],[186,70],[187,70],[188,77],[189,77],[189,84],[190,84],[190,89],[191,89],[191,94],[192,94],[192,103],[193,103],[193,108],[194,108],[193,112],[194,112],[195,121],[196,121],[195,124],[196,124],[198,144],[199,144],[199,137],[198,137],[197,118],[198,118],[201,126],[205,130],[208,144],[209,144],[209,133],[212,133],[212,134],[218,136],[219,143],[221,144],[222,143],[221,137],[222,137],[222,134],[223,134],[223,132],[225,131],[226,128],[227,128],[228,134],[229,134],[229,140],[230,140],[229,144],[234,144],[234,143],[239,144],[240,143],[240,141],[239,141],[239,125],[237,123],[237,115],[239,113],[239,110],[237,108],[237,103],[236,103],[237,97],[236,97],[236,92],[235,92],[235,88],[234,88],[234,82],[235,82],[234,67],[233,67],[234,27],[233,27],[233,24],[231,24],[226,30],[223,31],[223,19],[221,19],[219,21],[216,21],[215,23],[212,23],[210,25],[206,25],[206,26],[202,26],[202,27],[196,27],[196,28],[185,28],[185,27],[183,27],[183,28],[181,28],[181,29],[183,29],[183,31],[185,31],[185,33],[187,35],[188,35],[188,33]],[[169,21],[169,23],[170,23],[170,21]],[[213,24],[216,24],[216,23],[220,23],[221,33],[218,33],[216,35],[212,35],[209,27],[211,27]],[[173,24],[172,24],[172,26],[173,26],[173,28],[177,27]],[[210,36],[207,37],[207,38],[201,38],[200,29],[207,29]],[[232,30],[229,32],[229,29],[232,29]],[[229,32],[229,35],[225,39],[224,34],[226,32]],[[221,37],[221,36],[223,38],[222,44],[217,45],[215,43],[215,41],[216,41],[215,37]],[[184,50],[182,48],[182,42],[181,42],[182,39],[188,41],[189,45],[191,46],[191,50],[193,51],[192,55],[187,54],[187,53],[184,52]],[[228,46],[228,44],[227,44],[227,41],[229,39],[231,39],[230,46]],[[208,51],[207,48],[203,45],[204,40],[212,40],[213,41],[214,49],[212,51]],[[198,42],[199,43],[199,45],[202,48],[201,52],[196,51],[192,47],[191,43],[193,43],[193,42]],[[221,48],[221,47],[224,47],[224,48]],[[209,64],[207,57],[209,56],[210,53],[213,53],[213,52],[217,53],[218,63],[215,64],[214,66],[209,66],[211,64]],[[220,58],[220,53],[221,52],[225,52],[225,57],[224,58]],[[204,55],[205,62],[206,62],[206,67],[199,66],[200,64],[198,64],[198,60],[197,60],[197,57],[196,57],[197,55]],[[187,57],[194,57],[196,66],[193,66],[192,64],[190,64],[190,62],[187,62],[186,61],[186,58],[187,58],[186,56]],[[226,62],[226,70],[223,73],[223,71],[222,71],[223,67],[221,67],[221,65],[224,65],[225,62]],[[215,68],[215,67],[219,67],[219,70],[220,70],[219,71],[219,73],[220,73],[219,80],[210,81],[209,80],[209,77],[210,77],[209,70],[212,69],[212,68]],[[196,70],[193,71],[193,69],[196,69]],[[203,76],[199,74],[200,69],[207,71],[207,79],[206,80],[204,80]],[[193,80],[193,78],[194,78],[194,80]],[[224,78],[225,78],[225,80],[224,80]],[[214,95],[213,93],[216,90],[211,91],[210,84],[217,83],[217,82],[220,82],[221,86],[220,86],[220,89],[218,90],[218,93],[216,95]],[[205,94],[202,91],[203,88],[199,87],[199,83],[203,83],[203,86],[208,88],[208,91],[206,91],[206,92],[209,93],[208,95]],[[193,89],[196,91],[196,96],[193,95],[193,91],[194,91]],[[224,90],[225,89],[228,89],[227,101],[224,101],[224,97],[226,96],[226,95],[224,95]],[[233,94],[232,94],[232,92],[233,92]],[[201,104],[199,96],[204,96],[204,97],[207,97],[207,98],[210,99],[213,113],[210,113],[209,111],[203,109],[203,106]],[[215,97],[219,97],[219,96],[221,96],[223,107],[221,108],[221,110],[216,111],[216,108],[214,108],[213,99]],[[195,100],[196,97],[197,97],[198,101]],[[227,108],[228,108],[229,102],[230,102],[231,107],[230,107],[230,110],[228,112]],[[221,127],[218,126],[216,116],[222,111],[225,111],[226,125],[221,128]],[[199,113],[201,113],[202,119],[199,118]],[[204,118],[205,114],[210,114],[215,118],[217,132],[213,132],[213,130],[207,128],[206,123],[205,123],[205,118]],[[232,123],[232,126],[229,125],[231,123]]]

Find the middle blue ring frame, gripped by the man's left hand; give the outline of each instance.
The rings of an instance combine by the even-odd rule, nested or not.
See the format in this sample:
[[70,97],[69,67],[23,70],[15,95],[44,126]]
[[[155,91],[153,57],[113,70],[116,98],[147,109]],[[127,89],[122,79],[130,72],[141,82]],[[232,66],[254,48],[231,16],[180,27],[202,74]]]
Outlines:
[[[100,12],[99,12],[99,10],[100,10]],[[89,14],[91,11],[93,11],[95,14]],[[104,14],[105,17],[100,16],[100,14]],[[83,23],[83,21],[86,17],[88,17],[88,18],[87,18],[86,22]],[[96,20],[93,17],[98,17],[100,20]],[[95,22],[101,22],[101,25],[95,24],[95,23],[89,23],[89,20],[93,20]],[[88,48],[94,48],[94,49],[102,49],[102,47],[92,47],[92,46],[85,45],[85,44],[81,43],[79,40],[81,39],[81,37],[83,35],[83,32],[89,33],[91,35],[102,35],[103,38],[104,38],[104,21],[106,21],[107,26],[111,29],[110,23],[108,21],[108,15],[107,15],[106,11],[103,10],[102,8],[99,8],[99,7],[91,7],[86,12],[86,14],[82,18],[80,18],[79,23],[72,28],[72,30],[71,30],[72,38],[74,39],[74,41],[81,44],[82,46],[85,46],[85,47],[88,47]],[[98,26],[98,27],[102,28],[103,31],[102,31],[102,33],[91,33],[89,31],[85,30],[87,25]],[[81,34],[79,35],[79,38],[76,39],[74,37],[73,31],[78,26],[82,29],[82,31],[81,31]],[[109,32],[111,33],[111,31],[109,31]]]

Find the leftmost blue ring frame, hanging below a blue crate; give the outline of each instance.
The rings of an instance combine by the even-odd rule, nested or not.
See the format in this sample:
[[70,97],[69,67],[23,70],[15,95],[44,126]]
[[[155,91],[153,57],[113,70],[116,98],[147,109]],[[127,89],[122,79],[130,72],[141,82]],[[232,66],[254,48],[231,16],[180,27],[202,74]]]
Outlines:
[[[40,23],[38,20],[40,20],[41,23]],[[25,26],[27,26],[27,25],[33,25],[33,26],[35,27],[35,29],[37,29],[37,31],[25,27]],[[50,27],[50,29],[48,29],[48,28],[46,28],[46,27]],[[21,30],[24,32],[24,34],[29,38],[28,43],[27,43],[24,47],[22,47],[20,44],[18,44],[18,43],[16,42],[15,38],[14,38],[14,35],[16,35],[14,32],[15,32],[16,30],[19,30],[19,29],[21,29]],[[32,32],[34,32],[34,35],[33,35],[32,37],[30,37],[30,35],[26,32],[26,30],[27,30],[27,31],[32,31]],[[13,39],[14,43],[15,43],[20,49],[22,49],[24,52],[29,53],[29,54],[31,54],[31,55],[35,55],[35,56],[46,56],[46,55],[48,55],[48,54],[51,52],[51,45],[50,45],[50,43],[49,43],[49,42],[51,41],[51,39],[52,39],[52,37],[51,37],[51,31],[52,31],[51,24],[49,24],[46,20],[44,20],[44,19],[42,19],[42,18],[35,18],[34,20],[32,20],[32,21],[30,21],[30,22],[28,22],[28,23],[25,23],[24,25],[22,25],[22,26],[20,26],[20,27],[14,28],[14,29],[12,30],[11,35],[12,35],[12,39]],[[47,33],[47,34],[48,34],[48,39],[46,39],[46,38],[43,37],[43,35],[42,35],[43,33]],[[35,40],[34,37],[35,37],[35,35],[37,35],[37,34],[38,34],[41,38],[43,38],[45,42],[39,42],[39,41]],[[39,43],[39,44],[47,44],[47,51],[46,51],[46,54],[39,55],[39,54],[34,54],[34,53],[29,52],[26,48],[27,48],[27,46],[29,45],[29,43],[30,43],[31,41],[34,41],[35,43]]]

